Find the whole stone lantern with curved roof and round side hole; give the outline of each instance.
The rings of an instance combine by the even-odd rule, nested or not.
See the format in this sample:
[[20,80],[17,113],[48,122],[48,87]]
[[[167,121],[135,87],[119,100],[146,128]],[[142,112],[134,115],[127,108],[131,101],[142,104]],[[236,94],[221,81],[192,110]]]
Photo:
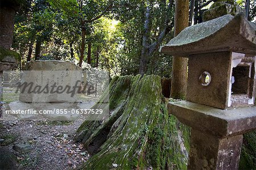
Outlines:
[[160,48],[187,56],[187,101],[168,110],[192,127],[188,169],[238,169],[242,134],[256,128],[256,26],[242,14],[185,28]]

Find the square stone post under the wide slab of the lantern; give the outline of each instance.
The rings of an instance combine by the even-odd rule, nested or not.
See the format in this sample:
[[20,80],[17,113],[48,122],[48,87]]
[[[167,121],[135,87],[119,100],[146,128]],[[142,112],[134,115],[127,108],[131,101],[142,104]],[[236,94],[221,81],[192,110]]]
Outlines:
[[238,169],[242,139],[220,139],[192,129],[188,169]]

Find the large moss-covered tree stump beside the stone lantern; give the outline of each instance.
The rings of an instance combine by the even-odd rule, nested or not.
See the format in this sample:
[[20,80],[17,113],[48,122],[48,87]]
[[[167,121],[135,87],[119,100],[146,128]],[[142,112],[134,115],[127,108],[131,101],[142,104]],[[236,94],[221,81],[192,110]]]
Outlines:
[[78,169],[186,169],[189,128],[168,114],[160,77],[114,77],[109,90],[110,117],[77,130],[76,140],[95,154]]

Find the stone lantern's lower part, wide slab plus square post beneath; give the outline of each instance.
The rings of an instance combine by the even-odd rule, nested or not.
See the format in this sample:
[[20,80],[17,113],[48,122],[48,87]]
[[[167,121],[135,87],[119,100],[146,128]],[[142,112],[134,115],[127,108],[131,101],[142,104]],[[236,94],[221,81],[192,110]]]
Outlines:
[[256,128],[256,107],[222,110],[188,101],[168,111],[192,127],[188,169],[238,169],[242,134]]

